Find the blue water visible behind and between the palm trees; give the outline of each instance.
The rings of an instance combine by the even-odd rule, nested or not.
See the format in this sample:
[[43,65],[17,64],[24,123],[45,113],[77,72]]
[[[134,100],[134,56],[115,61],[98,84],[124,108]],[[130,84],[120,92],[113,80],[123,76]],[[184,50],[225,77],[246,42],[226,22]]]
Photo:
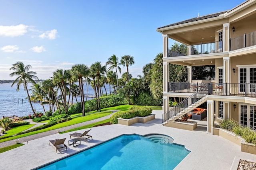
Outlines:
[[[23,88],[23,85],[20,86],[20,90],[16,91],[16,84],[11,87],[11,83],[2,83],[0,84],[0,118],[3,116],[28,116],[29,114],[33,114],[32,109],[30,107],[30,103],[28,102],[27,93]],[[31,84],[28,84],[28,89]],[[109,85],[105,85],[107,94],[109,94]],[[31,92],[29,92],[30,94]],[[103,93],[106,94],[105,89],[103,88]],[[84,84],[84,94],[86,94],[86,85]],[[94,90],[91,86],[88,86],[88,94],[94,95]],[[87,98],[87,100],[91,100],[92,98]],[[23,102],[22,102],[23,100]],[[77,96],[78,102],[80,102],[80,96]],[[84,99],[86,100],[86,98]],[[76,99],[73,99],[73,103],[76,103]],[[71,96],[70,96],[71,103]],[[36,112],[44,113],[44,109],[39,102],[32,102],[32,106]],[[49,105],[45,104],[44,108],[46,111],[49,110]],[[55,107],[56,108],[56,107]]]

